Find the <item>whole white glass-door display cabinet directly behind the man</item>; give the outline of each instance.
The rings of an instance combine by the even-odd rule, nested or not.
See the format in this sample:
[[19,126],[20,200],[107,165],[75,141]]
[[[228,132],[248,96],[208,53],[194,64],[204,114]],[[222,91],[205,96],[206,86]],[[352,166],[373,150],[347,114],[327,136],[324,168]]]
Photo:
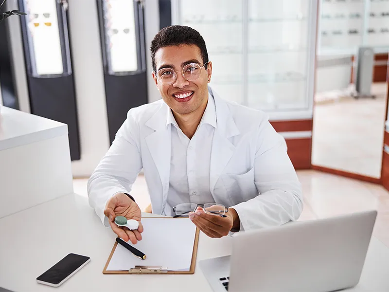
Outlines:
[[173,24],[195,28],[223,98],[275,119],[312,117],[315,0],[176,0]]

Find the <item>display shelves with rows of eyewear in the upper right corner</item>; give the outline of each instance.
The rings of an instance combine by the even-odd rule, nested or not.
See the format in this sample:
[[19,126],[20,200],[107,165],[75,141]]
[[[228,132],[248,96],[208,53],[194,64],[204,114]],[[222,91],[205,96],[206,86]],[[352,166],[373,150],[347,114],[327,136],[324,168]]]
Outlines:
[[321,0],[318,55],[389,50],[389,0]]

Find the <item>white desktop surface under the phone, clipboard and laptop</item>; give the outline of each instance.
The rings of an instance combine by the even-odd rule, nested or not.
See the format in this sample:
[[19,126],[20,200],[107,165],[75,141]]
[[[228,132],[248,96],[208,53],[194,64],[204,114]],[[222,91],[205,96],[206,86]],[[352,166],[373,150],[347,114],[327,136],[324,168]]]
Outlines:
[[[76,194],[2,218],[0,287],[15,292],[211,292],[198,263],[193,275],[102,274],[115,237],[89,207],[88,199]],[[200,233],[197,262],[229,255],[232,239],[212,239]],[[58,288],[35,282],[38,275],[68,253],[90,256],[91,261]],[[347,291],[389,291],[389,249],[376,238],[371,240],[360,283]]]

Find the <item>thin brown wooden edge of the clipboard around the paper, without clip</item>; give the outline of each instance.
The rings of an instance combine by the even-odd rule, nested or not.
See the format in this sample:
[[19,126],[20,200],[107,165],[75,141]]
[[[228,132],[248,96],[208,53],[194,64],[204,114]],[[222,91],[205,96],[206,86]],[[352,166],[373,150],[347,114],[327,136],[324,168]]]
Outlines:
[[[142,217],[142,218],[164,218],[164,219],[180,219],[180,218],[173,218],[173,217]],[[191,261],[191,267],[189,271],[167,271],[163,272],[161,271],[160,273],[148,273],[148,272],[143,272],[143,273],[131,273],[128,271],[107,271],[106,268],[109,265],[109,262],[111,261],[111,258],[113,256],[113,253],[115,252],[116,247],[118,246],[118,243],[115,241],[111,253],[108,256],[108,259],[106,261],[106,265],[103,270],[103,274],[195,274],[195,268],[196,268],[196,259],[197,259],[197,249],[198,249],[198,239],[200,236],[200,229],[196,227],[196,233],[195,233],[195,242],[193,244],[193,252],[192,252],[192,261]]]

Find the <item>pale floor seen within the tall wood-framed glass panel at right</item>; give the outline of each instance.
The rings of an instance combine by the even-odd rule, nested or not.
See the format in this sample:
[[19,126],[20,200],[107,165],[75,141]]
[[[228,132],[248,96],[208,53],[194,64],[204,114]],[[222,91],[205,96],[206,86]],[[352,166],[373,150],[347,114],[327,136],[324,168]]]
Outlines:
[[313,164],[380,178],[386,84],[375,84],[372,91],[376,99],[344,97],[316,103]]

